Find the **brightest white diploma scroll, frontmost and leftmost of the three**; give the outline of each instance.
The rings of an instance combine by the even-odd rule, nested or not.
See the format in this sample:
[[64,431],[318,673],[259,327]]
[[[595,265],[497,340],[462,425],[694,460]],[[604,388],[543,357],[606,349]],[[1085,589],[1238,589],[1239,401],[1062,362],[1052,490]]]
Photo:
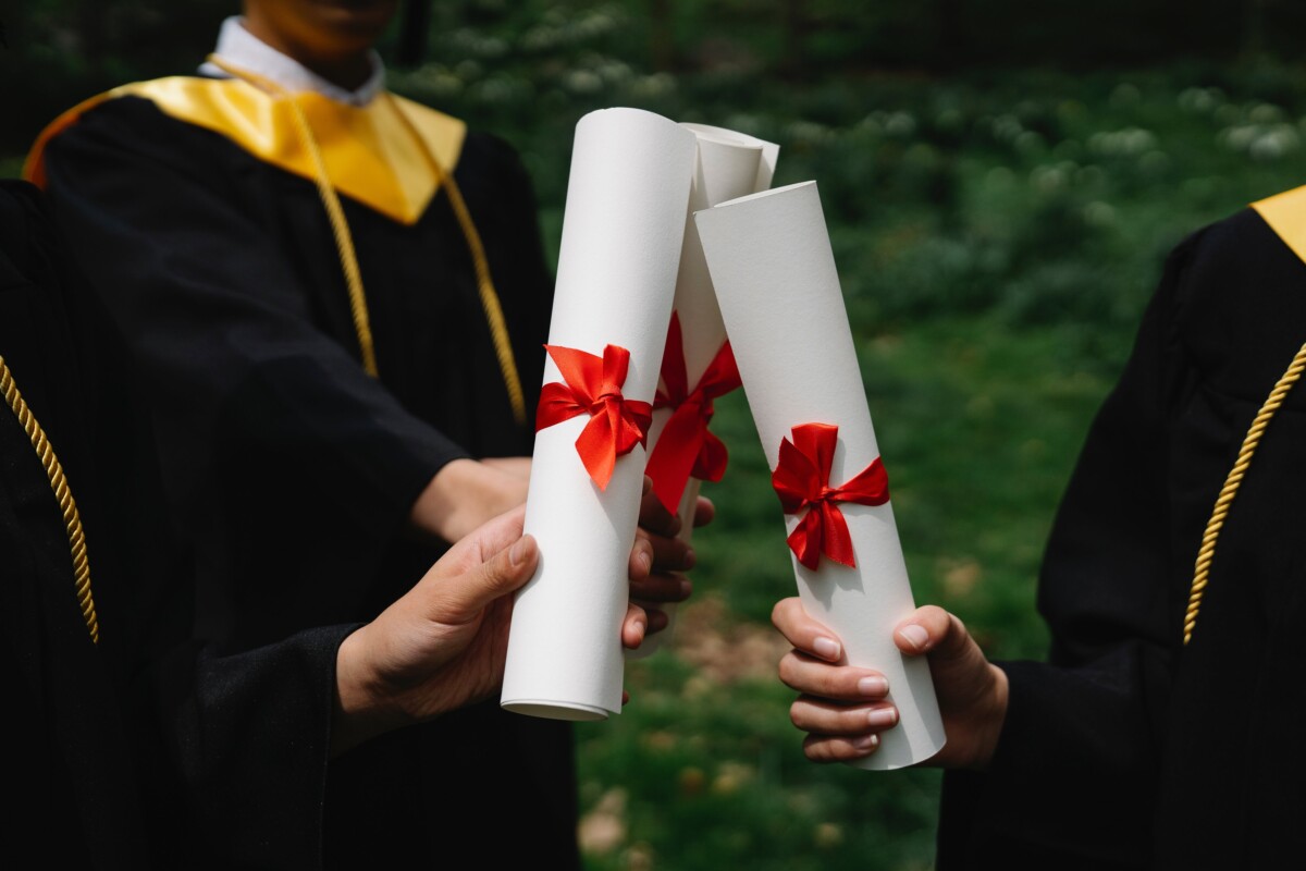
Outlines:
[[[633,108],[576,125],[549,343],[601,356],[631,353],[622,393],[653,401],[684,214],[693,133]],[[550,359],[545,383],[562,375]],[[526,531],[539,568],[517,594],[500,705],[554,720],[603,720],[622,709],[620,627],[644,487],[644,448],[616,458],[606,490],[589,478],[580,415],[535,434]]]

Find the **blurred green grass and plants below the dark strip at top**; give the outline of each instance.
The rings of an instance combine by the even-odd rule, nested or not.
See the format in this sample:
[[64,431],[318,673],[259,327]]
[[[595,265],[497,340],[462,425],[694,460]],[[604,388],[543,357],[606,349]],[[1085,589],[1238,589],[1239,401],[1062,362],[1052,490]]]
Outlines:
[[[780,142],[776,184],[821,191],[918,602],[961,615],[995,658],[1040,658],[1047,530],[1165,255],[1299,183],[1303,81],[1177,67],[747,94],[682,80],[644,103],[589,95],[521,141],[564,161],[543,137],[569,141],[562,125],[598,102]],[[558,184],[543,191],[551,249]],[[674,644],[628,666],[620,717],[579,729],[588,866],[929,868],[938,772],[802,756],[768,620],[795,582],[742,394],[718,402],[714,430],[731,465],[704,491],[718,520],[695,535]]]

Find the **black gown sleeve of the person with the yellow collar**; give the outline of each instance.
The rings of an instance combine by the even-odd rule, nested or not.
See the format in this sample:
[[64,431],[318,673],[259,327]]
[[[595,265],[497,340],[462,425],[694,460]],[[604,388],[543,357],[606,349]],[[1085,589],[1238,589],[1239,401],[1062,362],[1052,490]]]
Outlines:
[[468,454],[315,325],[312,289],[268,231],[274,218],[242,196],[248,167],[221,137],[195,133],[120,98],[44,155],[56,221],[151,394],[174,501],[202,504],[215,454],[236,445],[317,470],[295,478],[311,488],[299,498],[384,539],[435,471]]

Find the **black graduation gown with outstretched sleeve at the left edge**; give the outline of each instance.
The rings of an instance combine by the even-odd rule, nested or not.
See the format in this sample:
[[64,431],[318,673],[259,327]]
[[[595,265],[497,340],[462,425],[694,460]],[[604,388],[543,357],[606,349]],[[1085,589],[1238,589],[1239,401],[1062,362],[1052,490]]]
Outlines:
[[[93,641],[31,424],[5,402],[7,841],[39,834],[47,864],[132,871],[295,867],[316,855],[336,649],[353,626],[238,657],[188,637],[188,560],[120,337],[67,262],[39,192],[18,182],[0,182],[0,356],[77,508],[98,629]],[[248,789],[269,773],[265,789]],[[187,808],[229,833],[219,847],[197,838]]]

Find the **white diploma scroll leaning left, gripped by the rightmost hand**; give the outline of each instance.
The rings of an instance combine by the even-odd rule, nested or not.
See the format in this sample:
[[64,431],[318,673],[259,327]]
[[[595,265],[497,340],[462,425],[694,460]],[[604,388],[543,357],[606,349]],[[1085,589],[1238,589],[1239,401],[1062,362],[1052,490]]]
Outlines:
[[[744,394],[771,467],[803,423],[838,426],[832,486],[880,456],[815,182],[721,204],[695,215]],[[893,462],[884,461],[892,496]],[[778,508],[778,500],[777,500]],[[857,568],[793,560],[807,612],[844,641],[848,662],[882,671],[900,725],[859,768],[902,768],[943,747],[930,669],[893,645],[914,607],[892,501],[842,503]],[[799,516],[786,516],[789,531]]]

